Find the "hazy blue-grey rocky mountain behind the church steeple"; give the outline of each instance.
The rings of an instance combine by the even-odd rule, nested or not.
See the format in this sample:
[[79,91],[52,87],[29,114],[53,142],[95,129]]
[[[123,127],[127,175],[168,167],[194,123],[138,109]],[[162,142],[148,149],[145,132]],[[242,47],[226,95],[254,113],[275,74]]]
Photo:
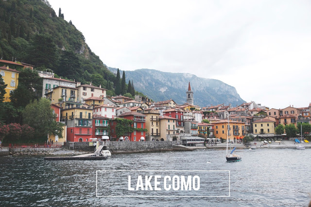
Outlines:
[[[109,68],[116,73],[117,69]],[[126,81],[133,80],[135,89],[146,94],[154,101],[172,98],[177,104],[186,102],[186,90],[190,81],[194,104],[207,106],[210,104],[242,104],[237,90],[222,81],[200,78],[190,73],[162,72],[155,69],[137,69],[126,71]]]

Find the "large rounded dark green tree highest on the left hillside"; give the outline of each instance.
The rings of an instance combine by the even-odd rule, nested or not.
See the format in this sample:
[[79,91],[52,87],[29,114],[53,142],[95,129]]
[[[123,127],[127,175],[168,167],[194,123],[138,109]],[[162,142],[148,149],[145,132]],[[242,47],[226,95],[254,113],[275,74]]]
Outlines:
[[45,68],[54,69],[58,59],[56,51],[57,47],[51,35],[36,34],[28,49],[27,61],[36,67],[44,66]]

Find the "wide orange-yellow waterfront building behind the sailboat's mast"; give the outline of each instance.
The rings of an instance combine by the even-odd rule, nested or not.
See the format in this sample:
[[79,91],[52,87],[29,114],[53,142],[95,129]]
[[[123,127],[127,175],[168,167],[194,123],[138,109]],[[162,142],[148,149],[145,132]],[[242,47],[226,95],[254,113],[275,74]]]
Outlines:
[[[227,138],[228,134],[228,121],[222,120],[214,122],[214,135],[216,138]],[[246,135],[245,123],[240,121],[229,121],[229,135],[228,137],[232,141],[242,140]]]

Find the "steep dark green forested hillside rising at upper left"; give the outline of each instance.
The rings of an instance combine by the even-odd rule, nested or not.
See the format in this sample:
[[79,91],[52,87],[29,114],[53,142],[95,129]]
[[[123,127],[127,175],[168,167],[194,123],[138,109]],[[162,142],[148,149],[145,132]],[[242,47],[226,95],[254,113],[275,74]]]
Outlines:
[[[0,58],[52,69],[57,76],[115,93],[121,79],[110,72],[85,42],[84,35],[47,0],[0,0]],[[127,90],[127,84],[123,86]],[[116,91],[119,92],[119,91]]]

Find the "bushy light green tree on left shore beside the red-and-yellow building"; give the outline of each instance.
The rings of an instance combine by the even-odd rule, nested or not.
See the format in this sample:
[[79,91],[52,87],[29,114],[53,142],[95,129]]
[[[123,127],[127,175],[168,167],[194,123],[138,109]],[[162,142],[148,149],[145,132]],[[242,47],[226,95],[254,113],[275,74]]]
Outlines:
[[55,114],[52,111],[50,101],[43,98],[25,107],[23,121],[35,129],[35,138],[45,140],[48,134],[62,137],[64,124],[54,121]]

